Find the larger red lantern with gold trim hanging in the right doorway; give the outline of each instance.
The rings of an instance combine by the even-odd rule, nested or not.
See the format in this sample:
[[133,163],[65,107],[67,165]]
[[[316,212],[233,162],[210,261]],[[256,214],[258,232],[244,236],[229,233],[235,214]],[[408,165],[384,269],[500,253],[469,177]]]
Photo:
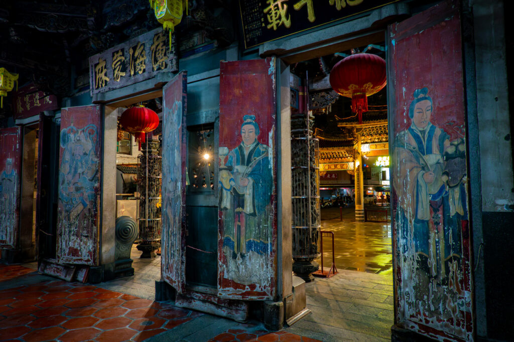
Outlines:
[[368,96],[386,86],[386,61],[372,53],[356,53],[337,62],[330,73],[330,85],[340,95],[352,98],[352,112],[368,111]]

